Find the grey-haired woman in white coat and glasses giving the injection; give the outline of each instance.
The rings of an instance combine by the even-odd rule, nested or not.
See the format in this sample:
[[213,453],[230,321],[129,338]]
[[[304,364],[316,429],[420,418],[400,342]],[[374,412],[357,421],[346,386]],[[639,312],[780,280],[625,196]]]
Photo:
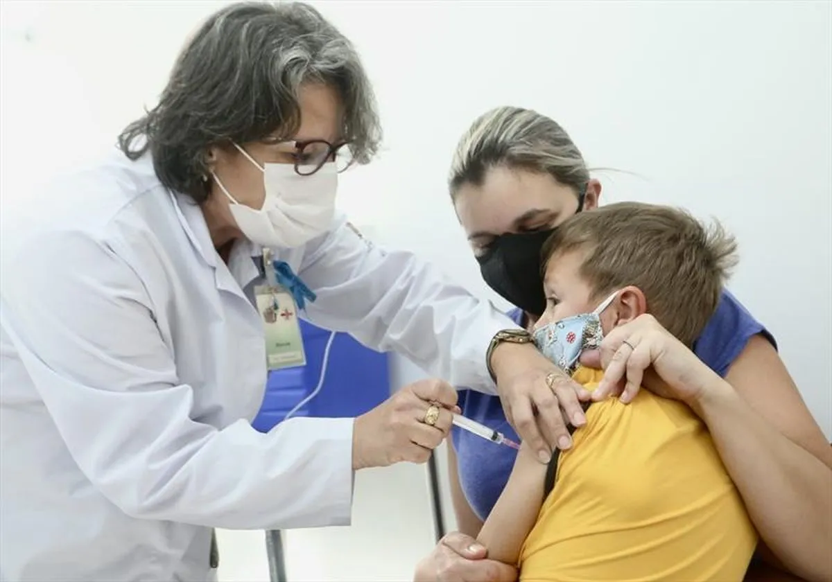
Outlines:
[[358,419],[255,432],[264,249],[314,323],[455,385],[493,391],[493,374],[522,435],[557,440],[577,403],[499,333],[516,326],[334,213],[338,170],[378,140],[334,27],[303,4],[232,5],[120,150],[4,210],[2,580],[206,580],[211,528],[347,524],[355,470],[425,461],[447,435],[456,394],[439,381]]

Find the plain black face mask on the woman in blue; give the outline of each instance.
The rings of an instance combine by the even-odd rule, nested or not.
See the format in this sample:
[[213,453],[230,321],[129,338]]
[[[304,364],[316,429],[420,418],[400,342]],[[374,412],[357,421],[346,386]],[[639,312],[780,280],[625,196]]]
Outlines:
[[[577,212],[583,210],[584,192],[578,197]],[[506,233],[494,239],[485,254],[477,257],[479,270],[488,287],[523,311],[540,317],[546,311],[543,292],[543,244],[554,229],[532,233]]]

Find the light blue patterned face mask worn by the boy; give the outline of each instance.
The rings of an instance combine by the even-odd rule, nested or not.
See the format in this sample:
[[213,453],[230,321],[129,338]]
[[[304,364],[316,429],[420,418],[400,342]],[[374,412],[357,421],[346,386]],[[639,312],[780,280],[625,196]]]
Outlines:
[[599,317],[616,298],[617,291],[604,299],[592,313],[581,313],[537,328],[532,333],[537,349],[557,367],[572,375],[585,349],[601,345],[604,332]]

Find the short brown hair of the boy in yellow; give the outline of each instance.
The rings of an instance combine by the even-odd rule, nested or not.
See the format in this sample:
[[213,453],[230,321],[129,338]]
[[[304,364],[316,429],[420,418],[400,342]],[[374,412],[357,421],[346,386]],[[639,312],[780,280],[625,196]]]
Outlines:
[[580,251],[580,274],[600,300],[627,285],[647,311],[691,346],[716,311],[737,263],[736,241],[721,224],[706,228],[685,210],[623,202],[574,215],[543,247],[544,270],[557,255]]

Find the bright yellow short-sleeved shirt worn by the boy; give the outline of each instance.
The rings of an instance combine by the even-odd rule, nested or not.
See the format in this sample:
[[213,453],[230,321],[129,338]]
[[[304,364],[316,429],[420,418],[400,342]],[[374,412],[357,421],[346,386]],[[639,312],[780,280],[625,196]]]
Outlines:
[[[602,372],[578,368],[592,390]],[[757,534],[704,424],[646,390],[587,410],[520,555],[522,582],[742,580]]]

